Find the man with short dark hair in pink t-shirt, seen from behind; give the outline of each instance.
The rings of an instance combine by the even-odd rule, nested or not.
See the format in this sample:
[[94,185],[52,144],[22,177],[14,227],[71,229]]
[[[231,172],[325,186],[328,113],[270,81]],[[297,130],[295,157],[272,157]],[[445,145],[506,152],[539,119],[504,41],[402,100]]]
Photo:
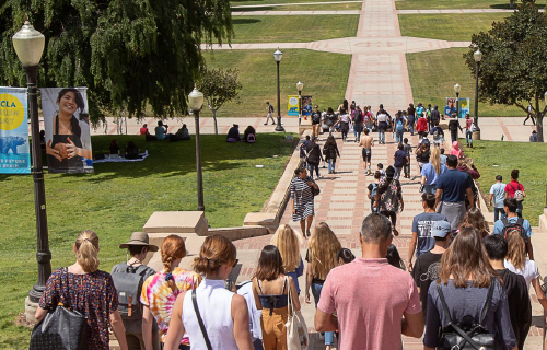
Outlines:
[[315,329],[339,330],[340,350],[403,349],[401,335],[420,338],[423,332],[416,283],[385,258],[392,241],[389,221],[368,215],[359,235],[362,258],[334,268],[325,281]]

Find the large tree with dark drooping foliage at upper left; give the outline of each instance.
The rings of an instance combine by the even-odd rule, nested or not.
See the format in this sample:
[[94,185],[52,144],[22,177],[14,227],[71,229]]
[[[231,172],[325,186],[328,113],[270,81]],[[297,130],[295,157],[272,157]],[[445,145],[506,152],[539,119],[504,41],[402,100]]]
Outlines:
[[0,4],[0,83],[23,85],[12,35],[25,14],[46,36],[39,86],[89,86],[91,119],[187,110],[201,44],[233,37],[229,0],[8,0]]

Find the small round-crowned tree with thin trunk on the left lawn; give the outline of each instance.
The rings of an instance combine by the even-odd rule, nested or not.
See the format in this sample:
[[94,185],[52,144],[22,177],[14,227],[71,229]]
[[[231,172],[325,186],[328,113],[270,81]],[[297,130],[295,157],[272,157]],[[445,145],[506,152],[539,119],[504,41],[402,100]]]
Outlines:
[[234,101],[243,88],[237,79],[236,69],[203,69],[198,82],[199,90],[203,93],[207,105],[212,112],[214,120],[214,133],[219,133],[217,127],[217,112],[226,102]]

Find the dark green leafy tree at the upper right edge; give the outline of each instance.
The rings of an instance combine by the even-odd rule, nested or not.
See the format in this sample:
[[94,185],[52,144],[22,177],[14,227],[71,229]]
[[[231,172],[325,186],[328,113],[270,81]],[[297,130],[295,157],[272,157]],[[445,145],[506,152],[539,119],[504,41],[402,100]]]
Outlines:
[[480,61],[480,101],[514,105],[524,113],[528,102],[536,117],[537,139],[544,142],[543,119],[547,106],[543,105],[547,91],[547,18],[532,1],[524,1],[510,18],[494,22],[488,33],[472,37],[469,51],[464,55],[475,75],[473,52],[482,51]]

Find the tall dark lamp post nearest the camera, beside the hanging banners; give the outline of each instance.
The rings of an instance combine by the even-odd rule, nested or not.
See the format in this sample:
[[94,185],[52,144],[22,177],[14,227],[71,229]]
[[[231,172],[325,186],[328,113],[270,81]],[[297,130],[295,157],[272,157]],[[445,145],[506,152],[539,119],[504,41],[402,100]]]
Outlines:
[[36,236],[38,261],[38,280],[28,292],[25,301],[27,319],[34,319],[33,308],[46,288],[47,279],[51,275],[51,252],[47,231],[46,190],[44,186],[44,168],[42,166],[42,149],[39,144],[38,97],[36,83],[38,80],[38,65],[44,52],[45,37],[36,31],[28,20],[21,30],[13,35],[13,47],[26,73],[28,89],[31,137],[32,137],[32,173],[34,178],[34,211],[36,213]]

